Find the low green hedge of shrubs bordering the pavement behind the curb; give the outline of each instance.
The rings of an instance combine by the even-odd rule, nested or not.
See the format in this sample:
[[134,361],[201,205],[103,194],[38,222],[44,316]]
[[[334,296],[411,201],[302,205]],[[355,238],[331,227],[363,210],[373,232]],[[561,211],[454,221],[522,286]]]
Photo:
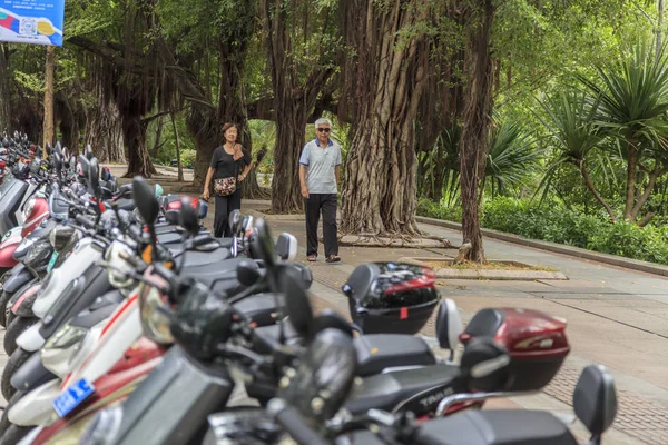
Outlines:
[[[461,208],[446,208],[426,199],[419,201],[418,214],[461,221]],[[556,201],[539,206],[499,197],[484,204],[481,225],[525,238],[668,265],[668,229],[612,224],[605,215],[588,215]]]

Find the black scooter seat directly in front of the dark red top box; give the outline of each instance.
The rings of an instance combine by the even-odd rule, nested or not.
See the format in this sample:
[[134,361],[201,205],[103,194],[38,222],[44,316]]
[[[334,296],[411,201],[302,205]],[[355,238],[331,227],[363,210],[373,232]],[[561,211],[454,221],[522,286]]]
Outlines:
[[[399,411],[409,399],[414,405],[421,404],[420,397],[443,394],[460,375],[458,366],[432,365],[365,377],[363,385],[355,389],[345,407],[353,415],[364,414],[373,408]],[[438,400],[429,400],[429,405],[433,403],[438,404]]]

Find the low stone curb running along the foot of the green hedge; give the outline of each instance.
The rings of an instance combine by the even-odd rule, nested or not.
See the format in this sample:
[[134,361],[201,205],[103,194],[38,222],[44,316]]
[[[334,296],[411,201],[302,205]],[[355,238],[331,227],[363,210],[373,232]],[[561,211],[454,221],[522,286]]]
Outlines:
[[[462,225],[459,222],[445,221],[442,219],[428,218],[424,216],[415,217],[418,222],[428,224],[431,226],[445,227],[449,229],[462,230]],[[582,249],[579,247],[564,246],[551,241],[540,241],[537,239],[524,238],[518,235],[510,235],[503,231],[481,228],[482,235],[488,238],[500,239],[502,241],[517,244],[520,246],[533,247],[541,250],[553,251],[556,254],[568,255],[571,257],[589,259],[592,261],[603,263],[611,266],[623,267],[631,270],[645,271],[647,274],[661,275],[668,277],[668,267],[657,265],[639,259],[625,258],[617,255],[600,254],[592,250]]]

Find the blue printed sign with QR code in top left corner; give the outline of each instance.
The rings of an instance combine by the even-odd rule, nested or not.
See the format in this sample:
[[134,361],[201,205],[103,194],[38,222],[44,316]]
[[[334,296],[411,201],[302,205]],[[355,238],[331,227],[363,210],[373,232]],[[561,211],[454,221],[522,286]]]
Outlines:
[[0,41],[62,46],[65,0],[0,0]]

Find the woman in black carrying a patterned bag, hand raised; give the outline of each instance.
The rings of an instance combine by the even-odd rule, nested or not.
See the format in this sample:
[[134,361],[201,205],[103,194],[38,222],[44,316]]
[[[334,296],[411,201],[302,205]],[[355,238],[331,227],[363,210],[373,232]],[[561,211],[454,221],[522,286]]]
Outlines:
[[214,236],[232,237],[229,214],[242,209],[240,182],[246,179],[253,167],[253,160],[236,142],[238,129],[234,123],[223,126],[225,144],[214,150],[212,165],[206,174],[203,198],[208,200],[210,182],[215,175],[214,194],[216,195],[216,216],[214,218]]

